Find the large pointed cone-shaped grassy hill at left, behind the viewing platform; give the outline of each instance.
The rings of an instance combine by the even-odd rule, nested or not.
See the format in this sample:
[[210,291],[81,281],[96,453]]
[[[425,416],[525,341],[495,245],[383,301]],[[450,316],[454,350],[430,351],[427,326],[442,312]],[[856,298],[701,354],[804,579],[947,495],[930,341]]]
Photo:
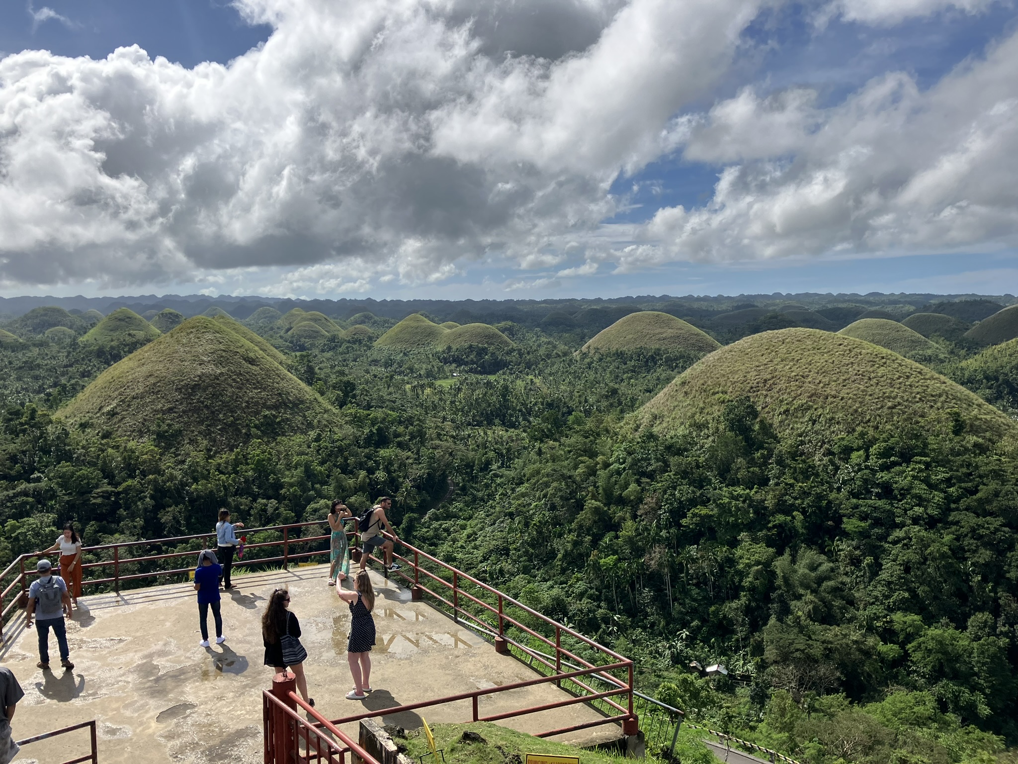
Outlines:
[[228,326],[185,321],[114,364],[59,416],[126,437],[179,438],[216,447],[335,427],[338,413]]

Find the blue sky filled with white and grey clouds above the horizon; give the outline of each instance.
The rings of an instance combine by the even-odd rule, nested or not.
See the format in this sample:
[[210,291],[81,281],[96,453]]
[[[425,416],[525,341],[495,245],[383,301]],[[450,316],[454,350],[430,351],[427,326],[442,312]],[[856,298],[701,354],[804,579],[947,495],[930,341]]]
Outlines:
[[1018,293],[1000,0],[0,0],[0,294]]

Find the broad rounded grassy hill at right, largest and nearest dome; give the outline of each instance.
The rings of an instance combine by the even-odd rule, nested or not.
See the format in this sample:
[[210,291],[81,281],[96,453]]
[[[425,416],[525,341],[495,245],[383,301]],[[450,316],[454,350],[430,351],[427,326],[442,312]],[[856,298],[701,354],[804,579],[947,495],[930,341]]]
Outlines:
[[947,422],[993,438],[1018,434],[1001,411],[946,377],[869,342],[816,329],[741,339],[679,375],[637,415],[672,431],[748,396],[779,432],[823,438],[865,427]]

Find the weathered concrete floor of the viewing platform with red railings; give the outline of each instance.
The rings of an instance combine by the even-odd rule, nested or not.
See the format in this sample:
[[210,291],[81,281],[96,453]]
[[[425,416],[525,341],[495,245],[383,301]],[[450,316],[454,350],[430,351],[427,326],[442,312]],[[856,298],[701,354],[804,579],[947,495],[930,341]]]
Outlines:
[[[0,648],[0,665],[14,672],[25,693],[12,724],[14,739],[97,719],[103,764],[262,761],[262,690],[270,687],[273,671],[263,665],[261,616],[278,586],[290,591],[290,607],[300,619],[308,653],[309,692],[327,718],[536,676],[429,605],[410,602],[408,590],[376,575],[375,692],[365,701],[347,701],[343,696],[353,686],[346,662],[350,615],[327,586],[327,571],[325,565],[314,565],[235,576],[237,588],[223,594],[227,641],[212,648],[197,644],[197,607],[189,584],[82,597],[67,624],[75,664],[69,672],[59,669],[52,635],[50,662],[56,670],[36,668],[35,629],[26,632],[23,614],[15,617],[5,627]],[[210,614],[210,629],[211,621]],[[494,714],[566,697],[553,685],[540,685],[482,697],[479,710]],[[467,721],[470,702],[421,709],[419,715],[393,714],[383,717],[383,723],[412,728],[420,725],[421,715],[429,722]],[[598,717],[577,704],[501,723],[535,732]],[[605,725],[557,740],[589,744],[618,734],[617,726]],[[88,750],[88,732],[80,730],[26,746],[15,761],[67,761]]]

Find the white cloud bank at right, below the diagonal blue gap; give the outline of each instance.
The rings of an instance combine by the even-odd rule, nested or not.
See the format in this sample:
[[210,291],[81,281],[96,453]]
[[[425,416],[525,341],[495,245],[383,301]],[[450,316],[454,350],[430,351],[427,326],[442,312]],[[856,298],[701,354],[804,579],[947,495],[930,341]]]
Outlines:
[[826,110],[743,92],[686,146],[748,161],[721,172],[705,207],[659,210],[620,265],[1018,247],[1016,70],[1013,35],[926,92],[904,73]]

